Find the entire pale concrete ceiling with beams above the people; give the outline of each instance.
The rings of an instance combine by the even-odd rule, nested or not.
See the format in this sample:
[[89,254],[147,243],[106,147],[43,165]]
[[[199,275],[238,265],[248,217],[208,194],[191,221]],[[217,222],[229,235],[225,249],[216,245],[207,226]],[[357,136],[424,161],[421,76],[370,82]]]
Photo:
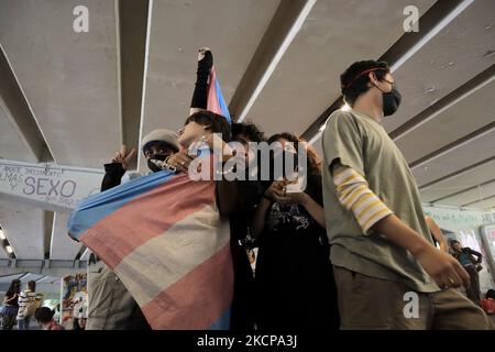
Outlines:
[[[400,43],[408,35],[426,34],[421,20],[420,33],[404,33],[406,6],[435,18],[438,7],[454,3],[312,2],[154,0],[146,9],[147,1],[134,0],[132,6],[151,18],[131,25],[133,13],[122,11],[127,0],[2,0],[0,54],[9,62],[0,79],[9,73],[13,79],[10,86],[0,81],[0,157],[101,168],[129,140],[124,131],[138,141],[156,128],[179,129],[188,114],[201,46],[213,51],[234,116],[251,99],[246,120],[268,135],[302,134],[340,97],[339,75],[352,62],[386,57],[391,50],[404,51]],[[73,9],[79,4],[89,9],[89,33],[73,31]],[[302,9],[309,9],[307,16]],[[298,16],[300,28],[293,29]],[[122,37],[139,42],[135,23],[143,33],[150,30],[147,51],[145,37],[142,50],[131,47],[144,57],[145,68],[132,61],[121,67],[130,50]],[[493,51],[495,1],[475,0],[394,73],[403,105],[384,127],[410,163],[426,202],[495,207]],[[273,72],[267,70],[270,63],[276,64]],[[144,72],[143,79],[133,81],[140,89],[128,87],[124,95],[139,103],[141,113],[124,119],[121,90],[130,70]],[[258,96],[246,89],[250,84],[261,89]],[[319,141],[315,146],[321,152]],[[0,226],[18,258],[80,255],[80,244],[66,237],[67,215],[48,210],[8,201],[0,194]],[[7,257],[0,250],[0,258]]]

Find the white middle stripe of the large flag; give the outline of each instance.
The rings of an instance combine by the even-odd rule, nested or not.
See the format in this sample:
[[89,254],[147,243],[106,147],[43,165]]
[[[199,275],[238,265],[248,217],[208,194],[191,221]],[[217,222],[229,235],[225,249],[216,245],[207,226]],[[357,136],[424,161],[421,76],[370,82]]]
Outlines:
[[221,220],[216,207],[206,206],[140,245],[114,272],[142,307],[218,253],[229,240],[229,221]]

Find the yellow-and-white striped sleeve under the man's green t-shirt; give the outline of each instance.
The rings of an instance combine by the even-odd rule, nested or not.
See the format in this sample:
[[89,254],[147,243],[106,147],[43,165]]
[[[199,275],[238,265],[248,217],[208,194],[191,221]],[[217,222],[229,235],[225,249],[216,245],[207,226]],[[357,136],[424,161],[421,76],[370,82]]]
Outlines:
[[376,222],[393,213],[354,169],[334,164],[332,173],[339,201],[352,211],[365,234],[370,234]]

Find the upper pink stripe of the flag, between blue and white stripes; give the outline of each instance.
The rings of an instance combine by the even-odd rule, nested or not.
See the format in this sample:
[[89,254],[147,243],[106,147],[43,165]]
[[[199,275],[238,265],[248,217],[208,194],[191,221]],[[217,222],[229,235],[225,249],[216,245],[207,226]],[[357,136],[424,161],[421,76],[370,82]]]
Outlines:
[[81,242],[113,270],[136,248],[215,201],[215,182],[180,174],[99,221]]

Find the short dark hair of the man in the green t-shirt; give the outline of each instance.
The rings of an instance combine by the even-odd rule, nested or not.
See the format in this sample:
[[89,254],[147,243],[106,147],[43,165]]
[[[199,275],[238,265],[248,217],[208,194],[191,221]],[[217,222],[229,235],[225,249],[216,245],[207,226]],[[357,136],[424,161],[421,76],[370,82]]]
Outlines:
[[378,80],[383,80],[391,72],[386,62],[376,62],[373,59],[356,62],[352,64],[345,72],[340,75],[340,86],[345,102],[351,107],[354,105],[359,96],[366,92],[370,87],[369,73],[374,72]]

